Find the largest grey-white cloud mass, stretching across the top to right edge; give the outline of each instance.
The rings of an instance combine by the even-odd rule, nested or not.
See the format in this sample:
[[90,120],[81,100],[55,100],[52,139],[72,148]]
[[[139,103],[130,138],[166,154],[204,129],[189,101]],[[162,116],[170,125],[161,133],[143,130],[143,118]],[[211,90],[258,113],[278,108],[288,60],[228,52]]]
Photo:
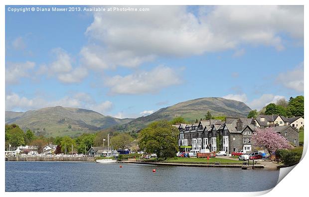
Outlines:
[[[220,5],[201,7],[198,14],[175,5],[151,6],[149,12],[94,12],[86,30],[89,44],[81,56],[87,66],[106,69],[136,67],[157,56],[236,49],[241,44],[283,50],[282,32],[303,40],[303,6]],[[243,53],[240,49],[234,55]]]

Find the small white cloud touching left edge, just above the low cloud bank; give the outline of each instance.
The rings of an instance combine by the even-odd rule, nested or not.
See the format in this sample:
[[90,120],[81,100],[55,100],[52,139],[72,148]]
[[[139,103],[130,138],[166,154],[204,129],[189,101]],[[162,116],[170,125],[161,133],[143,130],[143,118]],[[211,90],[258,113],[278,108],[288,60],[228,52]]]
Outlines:
[[22,77],[30,77],[29,72],[33,70],[35,63],[26,61],[25,63],[7,62],[5,65],[5,83],[16,84]]

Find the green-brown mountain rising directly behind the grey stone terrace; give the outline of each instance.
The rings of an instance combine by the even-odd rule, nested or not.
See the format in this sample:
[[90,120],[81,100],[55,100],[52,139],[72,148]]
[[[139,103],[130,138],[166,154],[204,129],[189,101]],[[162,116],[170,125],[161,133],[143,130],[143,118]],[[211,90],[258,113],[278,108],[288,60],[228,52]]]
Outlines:
[[170,107],[161,108],[153,114],[137,118],[127,124],[115,126],[118,131],[139,131],[151,122],[157,120],[172,120],[176,116],[183,117],[186,121],[194,122],[203,118],[207,111],[212,116],[247,117],[251,111],[245,103],[219,97],[206,97],[177,103]]

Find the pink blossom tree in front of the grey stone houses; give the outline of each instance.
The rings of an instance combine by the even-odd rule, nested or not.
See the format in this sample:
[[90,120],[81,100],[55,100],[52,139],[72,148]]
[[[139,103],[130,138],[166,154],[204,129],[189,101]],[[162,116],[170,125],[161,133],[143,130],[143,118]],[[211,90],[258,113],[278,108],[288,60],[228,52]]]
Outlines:
[[293,146],[273,128],[258,129],[251,138],[254,146],[264,147],[271,154],[278,149],[292,149]]

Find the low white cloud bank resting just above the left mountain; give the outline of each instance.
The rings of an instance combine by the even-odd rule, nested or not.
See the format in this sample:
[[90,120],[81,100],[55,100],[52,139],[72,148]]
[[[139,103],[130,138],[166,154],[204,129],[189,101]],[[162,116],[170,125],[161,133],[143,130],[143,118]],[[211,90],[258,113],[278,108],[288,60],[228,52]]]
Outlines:
[[27,111],[58,105],[63,107],[90,109],[102,114],[113,109],[113,103],[111,101],[96,102],[90,95],[83,92],[64,96],[53,101],[48,101],[42,97],[26,98],[14,92],[5,95],[5,111]]

